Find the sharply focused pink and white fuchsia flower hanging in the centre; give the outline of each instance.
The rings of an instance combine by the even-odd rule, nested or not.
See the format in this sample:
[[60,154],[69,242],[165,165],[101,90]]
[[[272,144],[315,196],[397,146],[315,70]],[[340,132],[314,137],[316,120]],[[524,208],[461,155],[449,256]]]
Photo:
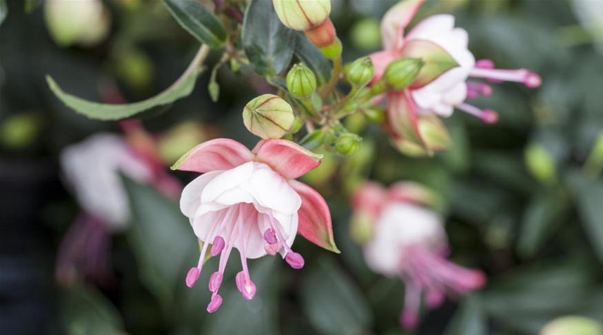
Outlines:
[[325,199],[295,180],[316,168],[321,157],[287,140],[262,140],[249,151],[235,140],[220,138],[199,144],[172,166],[203,173],[184,188],[180,206],[203,242],[186,284],[192,288],[198,279],[208,249],[212,256],[221,255],[218,271],[209,279],[213,295],[207,312],[222,304],[218,290],[232,248],[238,249],[243,266],[236,287],[247,300],[256,293],[247,259],[280,253],[292,268],[303,268],[303,257],[292,250],[297,233],[339,252]]

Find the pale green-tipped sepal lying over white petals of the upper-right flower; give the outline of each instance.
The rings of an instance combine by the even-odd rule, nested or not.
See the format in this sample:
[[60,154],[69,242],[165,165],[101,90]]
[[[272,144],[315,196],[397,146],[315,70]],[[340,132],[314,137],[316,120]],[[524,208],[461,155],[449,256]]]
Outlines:
[[419,89],[449,69],[460,66],[450,54],[435,43],[423,40],[412,40],[404,45],[402,57],[421,58],[423,65],[419,75],[411,85],[411,89]]

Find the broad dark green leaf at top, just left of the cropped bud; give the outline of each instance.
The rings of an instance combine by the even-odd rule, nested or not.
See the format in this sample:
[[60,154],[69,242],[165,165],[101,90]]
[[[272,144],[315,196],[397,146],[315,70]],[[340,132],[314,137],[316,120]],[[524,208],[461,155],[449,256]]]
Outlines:
[[270,0],[249,3],[242,40],[249,65],[258,74],[278,76],[291,63],[295,32],[280,23]]

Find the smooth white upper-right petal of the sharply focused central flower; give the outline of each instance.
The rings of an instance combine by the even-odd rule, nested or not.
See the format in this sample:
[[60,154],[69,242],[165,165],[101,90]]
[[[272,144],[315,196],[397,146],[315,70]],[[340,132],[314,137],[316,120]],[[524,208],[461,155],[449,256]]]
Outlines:
[[255,163],[249,179],[257,194],[258,203],[280,213],[296,213],[301,206],[301,198],[280,174],[266,164]]

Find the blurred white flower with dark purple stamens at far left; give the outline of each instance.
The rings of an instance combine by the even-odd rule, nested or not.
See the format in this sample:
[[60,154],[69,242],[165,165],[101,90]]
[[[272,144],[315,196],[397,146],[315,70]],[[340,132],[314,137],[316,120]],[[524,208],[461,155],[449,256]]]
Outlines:
[[168,196],[181,189],[159,162],[134,148],[132,142],[139,141],[130,140],[132,131],[126,133],[128,140],[101,133],[61,151],[65,182],[81,207],[59,247],[57,279],[63,285],[79,275],[99,283],[110,279],[111,235],[123,230],[131,215],[120,174]]

